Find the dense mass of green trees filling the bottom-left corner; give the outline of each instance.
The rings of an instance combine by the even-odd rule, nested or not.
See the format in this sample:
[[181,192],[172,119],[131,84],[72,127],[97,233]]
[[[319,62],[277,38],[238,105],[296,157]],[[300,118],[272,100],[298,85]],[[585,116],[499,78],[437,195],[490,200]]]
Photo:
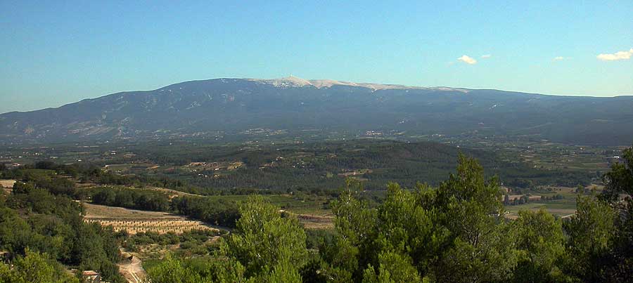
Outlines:
[[[5,271],[4,280],[65,282],[58,271],[63,263],[79,271],[99,270],[111,282],[124,282],[115,265],[120,253],[113,231],[84,223],[82,211],[68,197],[51,195],[29,183],[15,183],[12,194],[0,199],[0,250],[15,258],[10,272],[6,266],[0,267]],[[39,273],[44,281],[32,279]]]

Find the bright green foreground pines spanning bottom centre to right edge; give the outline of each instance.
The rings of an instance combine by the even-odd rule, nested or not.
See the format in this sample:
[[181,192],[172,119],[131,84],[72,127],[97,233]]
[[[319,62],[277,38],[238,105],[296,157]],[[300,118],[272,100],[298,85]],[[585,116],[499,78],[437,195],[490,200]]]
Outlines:
[[[632,150],[607,175],[608,191],[631,192]],[[619,171],[618,171],[619,170]],[[378,207],[347,180],[332,204],[335,232],[318,250],[305,247],[293,218],[254,197],[241,207],[238,229],[206,269],[169,258],[150,270],[153,282],[170,268],[174,282],[627,282],[633,277],[630,199],[579,195],[568,220],[546,211],[504,218],[499,182],[460,157],[457,172],[437,187],[388,185]],[[616,193],[617,194],[617,193]],[[310,240],[309,242],[314,242]],[[202,281],[196,281],[202,280]],[[206,281],[205,281],[206,280]]]

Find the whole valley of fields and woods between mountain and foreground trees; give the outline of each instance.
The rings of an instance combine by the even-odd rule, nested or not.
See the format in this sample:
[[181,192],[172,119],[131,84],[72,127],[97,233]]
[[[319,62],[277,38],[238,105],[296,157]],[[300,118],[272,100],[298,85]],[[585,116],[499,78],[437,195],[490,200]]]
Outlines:
[[441,190],[454,181],[461,158],[473,157],[485,169],[482,177],[498,182],[506,221],[540,211],[568,221],[579,200],[603,194],[603,174],[626,154],[626,147],[532,138],[369,134],[286,140],[253,131],[230,143],[170,138],[4,146],[0,184],[12,205],[37,192],[30,187],[79,203],[84,225],[115,238],[116,274],[138,283],[173,258],[217,261],[222,243],[243,233],[241,211],[254,196],[284,221],[296,221],[316,253],[337,237],[337,209],[352,192],[354,202],[380,210],[398,190],[420,196],[427,185]]

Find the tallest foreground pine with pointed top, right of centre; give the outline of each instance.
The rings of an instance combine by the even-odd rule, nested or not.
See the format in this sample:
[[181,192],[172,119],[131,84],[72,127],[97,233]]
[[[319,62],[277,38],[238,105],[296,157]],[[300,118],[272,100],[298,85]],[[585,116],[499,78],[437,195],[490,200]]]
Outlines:
[[482,166],[460,154],[457,173],[437,188],[435,206],[452,243],[435,267],[440,282],[503,281],[516,266],[516,250],[505,224],[497,178],[485,180]]

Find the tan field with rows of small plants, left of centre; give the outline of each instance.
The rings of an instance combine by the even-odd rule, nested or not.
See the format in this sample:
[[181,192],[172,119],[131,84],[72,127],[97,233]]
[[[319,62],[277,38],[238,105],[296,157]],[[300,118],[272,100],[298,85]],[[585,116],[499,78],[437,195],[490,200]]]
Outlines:
[[115,231],[127,230],[129,234],[138,232],[158,232],[177,234],[190,230],[211,230],[215,228],[200,221],[193,221],[183,216],[158,211],[140,211],[121,207],[84,204],[86,216],[84,221],[112,226]]

